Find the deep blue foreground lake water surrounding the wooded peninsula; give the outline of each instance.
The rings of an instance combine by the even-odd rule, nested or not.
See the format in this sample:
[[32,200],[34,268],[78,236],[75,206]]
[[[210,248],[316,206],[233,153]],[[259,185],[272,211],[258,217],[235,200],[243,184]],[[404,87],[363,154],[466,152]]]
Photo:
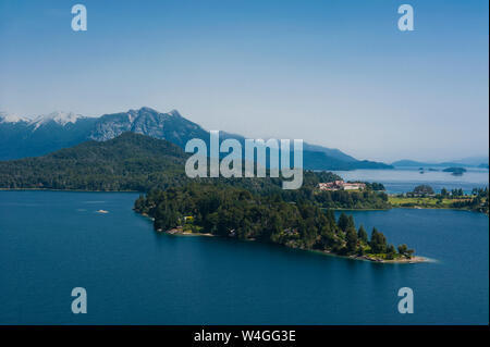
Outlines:
[[[136,194],[0,191],[1,324],[488,324],[489,220],[353,212],[437,261],[377,264],[280,246],[160,235]],[[107,214],[97,213],[103,209]],[[84,287],[88,313],[71,312]],[[397,312],[411,287],[415,313]]]

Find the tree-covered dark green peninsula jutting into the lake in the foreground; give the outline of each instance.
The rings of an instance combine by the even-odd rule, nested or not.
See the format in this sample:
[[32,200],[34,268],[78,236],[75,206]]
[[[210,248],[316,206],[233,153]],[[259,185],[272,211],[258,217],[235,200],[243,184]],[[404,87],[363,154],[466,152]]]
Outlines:
[[254,195],[223,185],[189,184],[140,196],[134,206],[154,219],[157,232],[174,235],[221,236],[273,243],[375,262],[414,263],[406,245],[396,248],[376,227],[371,236],[354,219],[301,200],[290,202],[281,195]]

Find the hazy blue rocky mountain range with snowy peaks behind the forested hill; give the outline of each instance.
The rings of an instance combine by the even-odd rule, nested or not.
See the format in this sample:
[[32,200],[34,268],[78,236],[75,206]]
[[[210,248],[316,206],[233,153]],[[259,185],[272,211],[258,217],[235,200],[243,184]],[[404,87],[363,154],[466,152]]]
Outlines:
[[[37,157],[93,139],[106,141],[132,132],[166,139],[181,148],[192,138],[209,141],[209,132],[183,117],[179,111],[167,113],[150,108],[128,110],[87,117],[74,113],[53,112],[36,117],[0,114],[0,160]],[[220,138],[245,137],[220,132]],[[304,168],[307,170],[392,169],[393,166],[357,160],[339,149],[304,142]]]

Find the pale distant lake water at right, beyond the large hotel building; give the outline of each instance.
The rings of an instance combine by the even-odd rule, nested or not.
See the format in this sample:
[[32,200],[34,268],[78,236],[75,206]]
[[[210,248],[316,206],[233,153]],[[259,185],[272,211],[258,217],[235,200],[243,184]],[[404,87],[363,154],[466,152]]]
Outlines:
[[470,193],[473,188],[483,188],[489,186],[488,169],[467,168],[461,176],[454,176],[450,172],[428,171],[428,168],[420,174],[418,168],[405,168],[394,170],[353,170],[334,171],[345,181],[379,182],[384,185],[387,193],[397,194],[412,191],[421,184],[430,185],[436,191],[442,188],[460,189]]

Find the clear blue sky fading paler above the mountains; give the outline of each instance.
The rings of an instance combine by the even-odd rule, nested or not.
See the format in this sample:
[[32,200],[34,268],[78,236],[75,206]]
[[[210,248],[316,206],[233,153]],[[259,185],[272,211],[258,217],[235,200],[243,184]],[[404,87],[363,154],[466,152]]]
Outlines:
[[[87,30],[71,27],[72,5]],[[414,8],[401,32],[397,8]],[[392,162],[488,156],[488,1],[0,0],[0,110],[176,109]]]

